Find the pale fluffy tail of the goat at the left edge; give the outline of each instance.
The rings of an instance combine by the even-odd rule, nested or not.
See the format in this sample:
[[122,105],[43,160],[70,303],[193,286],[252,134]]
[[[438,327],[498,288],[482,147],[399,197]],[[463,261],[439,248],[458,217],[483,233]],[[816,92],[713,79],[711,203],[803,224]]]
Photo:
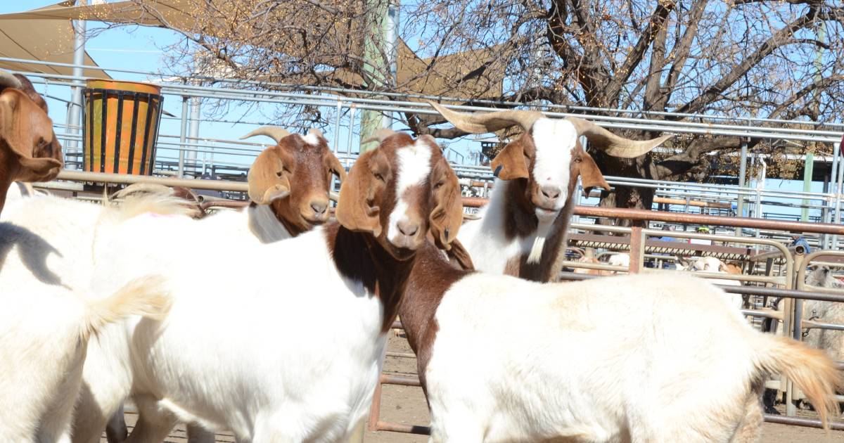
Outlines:
[[80,335],[87,339],[102,327],[126,316],[145,316],[163,319],[170,311],[170,294],[161,276],[136,278],[103,300],[89,301],[88,315]]

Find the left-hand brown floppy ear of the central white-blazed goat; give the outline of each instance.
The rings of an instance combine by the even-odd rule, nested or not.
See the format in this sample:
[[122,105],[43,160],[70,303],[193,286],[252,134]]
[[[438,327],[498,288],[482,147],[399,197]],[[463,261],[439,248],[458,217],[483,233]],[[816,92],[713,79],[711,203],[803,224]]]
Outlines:
[[355,160],[349,175],[340,185],[340,198],[334,217],[347,230],[371,232],[376,237],[381,235],[381,208],[373,206],[375,178],[370,170],[370,162],[378,149],[372,149],[360,154]]

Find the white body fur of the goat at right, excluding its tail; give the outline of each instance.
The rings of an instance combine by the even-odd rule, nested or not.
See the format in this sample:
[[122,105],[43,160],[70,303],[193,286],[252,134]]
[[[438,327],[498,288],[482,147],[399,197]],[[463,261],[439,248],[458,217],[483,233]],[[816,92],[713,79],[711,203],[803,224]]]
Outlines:
[[459,280],[425,370],[431,440],[730,440],[777,351],[722,294],[683,275]]

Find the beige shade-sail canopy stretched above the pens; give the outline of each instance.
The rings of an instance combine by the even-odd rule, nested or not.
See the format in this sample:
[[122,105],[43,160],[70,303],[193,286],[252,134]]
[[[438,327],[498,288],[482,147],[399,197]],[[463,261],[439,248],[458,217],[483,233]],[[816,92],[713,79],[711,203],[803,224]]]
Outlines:
[[[215,8],[227,8],[229,3],[216,3]],[[51,60],[70,62],[73,59],[73,29],[70,20],[91,19],[110,23],[131,23],[147,26],[160,26],[185,32],[201,32],[206,35],[225,36],[230,33],[228,29],[214,29],[214,21],[209,23],[205,20],[199,23],[197,17],[203,17],[204,8],[207,3],[197,0],[148,0],[143,6],[131,1],[116,3],[102,3],[88,6],[73,6],[73,1],[57,3],[46,8],[35,9],[16,14],[0,14],[0,30],[6,31],[7,24],[10,29],[32,30],[37,29],[42,23],[43,30],[37,33],[16,33],[16,43],[0,40],[0,48],[16,46],[19,51],[5,55],[4,57],[33,57],[32,47],[48,48],[57,46],[51,50],[45,58],[39,60]],[[225,11],[214,11],[214,14],[225,14]],[[35,23],[38,25],[36,25]],[[338,29],[338,36],[348,33],[349,30]],[[3,38],[3,36],[0,36]],[[346,39],[348,41],[348,39]],[[10,43],[10,44],[7,44]],[[350,43],[349,51],[360,52],[362,47],[354,42]],[[62,46],[63,45],[63,46]],[[3,50],[0,50],[3,51]],[[408,89],[415,93],[425,95],[470,95],[479,98],[497,97],[501,93],[502,75],[494,75],[495,80],[487,76],[472,76],[474,70],[484,65],[491,64],[488,68],[495,72],[503,72],[504,66],[496,66],[501,58],[497,52],[500,48],[484,48],[478,51],[465,51],[456,54],[437,57],[434,59],[423,59],[416,55],[404,42],[398,42],[398,84],[405,84]],[[55,54],[55,55],[54,55]],[[67,59],[59,60],[56,57]],[[37,55],[35,56],[37,57]],[[94,62],[86,57],[86,64]],[[500,65],[500,63],[498,63]],[[0,67],[13,69],[36,69],[35,65],[21,68],[20,65],[12,67],[11,63],[3,64]],[[62,68],[57,68],[61,70]],[[69,68],[68,68],[69,71]],[[101,71],[100,71],[101,73]],[[85,73],[85,75],[102,76],[102,74]],[[362,78],[355,73],[345,69],[338,69],[333,77],[344,84],[359,85]],[[454,78],[465,78],[459,83],[459,90],[453,88]],[[450,85],[452,85],[450,87]]]

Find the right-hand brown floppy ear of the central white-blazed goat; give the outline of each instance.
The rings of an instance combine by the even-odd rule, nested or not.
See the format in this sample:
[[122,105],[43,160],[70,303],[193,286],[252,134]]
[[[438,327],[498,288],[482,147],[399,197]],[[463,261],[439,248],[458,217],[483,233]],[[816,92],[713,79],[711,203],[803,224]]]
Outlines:
[[440,249],[448,251],[463,224],[463,198],[457,174],[441,157],[431,171],[431,192],[434,209],[430,212],[430,233]]

